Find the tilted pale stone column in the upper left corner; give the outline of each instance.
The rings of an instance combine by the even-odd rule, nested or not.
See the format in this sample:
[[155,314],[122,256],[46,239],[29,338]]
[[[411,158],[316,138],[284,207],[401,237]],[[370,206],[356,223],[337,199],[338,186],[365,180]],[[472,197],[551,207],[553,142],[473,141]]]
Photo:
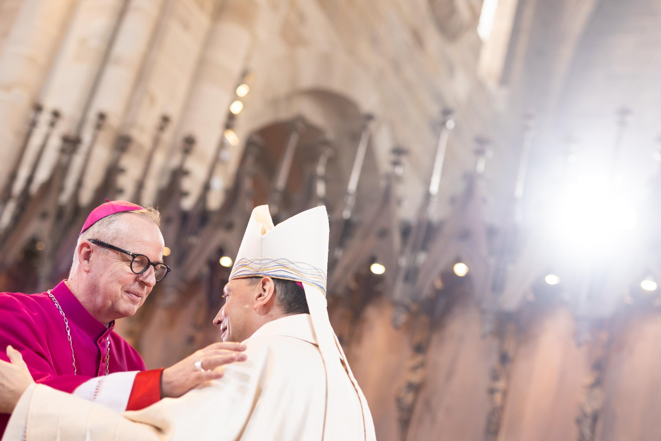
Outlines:
[[19,153],[30,110],[67,28],[74,3],[74,0],[23,0],[0,47],[0,151],[3,155],[0,186],[9,176],[9,168]]

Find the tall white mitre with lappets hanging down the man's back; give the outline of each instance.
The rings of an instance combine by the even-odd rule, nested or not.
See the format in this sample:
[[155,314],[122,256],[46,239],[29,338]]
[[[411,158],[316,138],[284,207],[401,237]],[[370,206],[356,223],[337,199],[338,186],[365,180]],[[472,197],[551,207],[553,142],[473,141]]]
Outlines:
[[349,368],[326,309],[328,254],[329,219],[326,207],[312,208],[274,226],[268,205],[258,206],[248,222],[229,280],[269,276],[303,284],[319,351],[326,368],[324,439],[336,439],[333,426],[341,424],[341,421],[334,418],[334,415],[342,415],[343,403],[342,397],[334,394],[334,391],[341,390],[334,387],[334,381],[348,375],[360,399],[366,439],[373,440],[374,424],[367,401]]

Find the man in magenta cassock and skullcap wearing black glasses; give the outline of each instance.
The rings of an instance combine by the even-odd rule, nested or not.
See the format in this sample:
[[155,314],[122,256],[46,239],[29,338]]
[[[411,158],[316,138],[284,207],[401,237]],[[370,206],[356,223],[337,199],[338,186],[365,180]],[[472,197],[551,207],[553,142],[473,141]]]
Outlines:
[[[125,212],[135,212],[142,216],[135,216],[135,214],[128,216]],[[155,217],[153,213],[156,214]],[[112,220],[115,224],[111,227],[108,220],[105,220],[104,223],[97,224],[97,230],[106,227],[108,229],[116,228],[119,219],[117,216],[125,216],[119,222],[129,225],[132,233],[141,231],[140,225],[146,225],[149,232],[142,236],[138,235],[137,238],[133,237],[132,240],[135,240],[137,244],[147,243],[146,247],[143,245],[145,250],[156,250],[151,251],[152,255],[157,256],[152,259],[162,256],[163,237],[158,229],[158,212],[151,208],[145,210],[141,206],[125,201],[108,201],[93,210],[81,230],[78,247],[83,239],[90,239],[87,240],[87,245],[84,245],[89,247],[89,250],[93,250],[92,244],[96,242],[104,243],[87,238],[90,234],[98,233],[94,229],[90,229],[85,235],[83,233],[97,221],[108,216],[115,216]],[[106,245],[108,244],[102,246]],[[153,264],[151,260],[146,259],[147,256],[143,256],[145,257],[145,270],[136,272],[131,257],[127,258],[124,254],[112,250],[107,255],[97,255],[96,262],[104,264],[104,259],[115,259],[111,261],[111,264],[114,265],[115,271],[120,271],[116,273],[120,274],[118,276],[121,278],[118,282],[120,288],[110,294],[128,296],[129,300],[124,299],[124,301],[128,302],[129,309],[134,312],[147,297],[153,284],[169,272],[169,267],[163,263]],[[136,251],[149,254],[143,250]],[[89,253],[93,252],[89,251]],[[115,256],[112,256],[111,253],[115,253]],[[120,259],[124,259],[124,261]],[[74,261],[74,264],[76,263]],[[154,268],[153,272],[151,266]],[[131,299],[130,294],[123,291],[125,286],[130,286],[130,289],[136,291],[141,296],[139,300]],[[104,289],[106,288],[99,288],[100,291]],[[117,293],[118,291],[121,291],[120,294]],[[98,297],[103,293],[93,292],[92,295]],[[113,301],[118,303],[116,299]],[[200,368],[204,361],[203,355],[215,356],[212,359],[207,358],[204,367],[209,370],[223,362],[243,359],[243,356],[218,350],[221,348],[220,345],[226,345],[225,343],[208,346],[205,350],[200,350],[173,368],[169,368],[170,372],[174,370],[174,374],[169,375],[177,378],[176,381],[179,382],[178,390],[169,388],[168,391],[165,391],[165,387],[161,384],[164,370],[162,368],[145,370],[145,364],[136,350],[114,331],[115,321],[112,320],[107,325],[99,321],[83,306],[65,280],[55,288],[41,294],[0,293],[0,311],[2,313],[0,359],[9,360],[5,348],[11,344],[21,352],[36,383],[71,393],[118,412],[142,409],[159,401],[162,395],[179,396],[202,381],[219,378],[217,374],[209,371],[200,372],[203,370]],[[231,348],[231,345],[222,346],[222,348]],[[227,358],[223,359],[223,356]],[[186,376],[189,377],[186,380],[188,383],[183,385],[180,381]],[[169,382],[167,385],[169,386],[171,383]],[[169,393],[170,391],[172,392]],[[8,421],[9,415],[0,413],[0,437],[5,431]]]

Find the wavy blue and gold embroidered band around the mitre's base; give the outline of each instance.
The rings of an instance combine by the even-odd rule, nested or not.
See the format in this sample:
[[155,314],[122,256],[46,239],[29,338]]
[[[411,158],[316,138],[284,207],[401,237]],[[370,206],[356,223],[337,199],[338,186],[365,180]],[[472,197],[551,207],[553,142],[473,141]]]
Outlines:
[[316,286],[326,295],[326,272],[305,262],[288,259],[239,259],[229,275],[241,277],[268,276],[304,282]]

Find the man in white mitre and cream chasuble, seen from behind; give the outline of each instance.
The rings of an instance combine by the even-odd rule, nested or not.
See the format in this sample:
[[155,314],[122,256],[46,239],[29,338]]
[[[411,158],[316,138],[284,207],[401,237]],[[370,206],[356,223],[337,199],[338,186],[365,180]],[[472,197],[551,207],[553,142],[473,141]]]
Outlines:
[[[253,314],[264,322],[244,341],[247,361],[226,366],[219,380],[140,411],[116,413],[33,383],[20,396],[3,440],[375,440],[368,403],[326,309],[328,244],[323,206],[278,226],[268,206],[255,208],[228,286],[256,286],[258,294],[239,305],[252,314],[274,311],[268,309],[270,297],[278,296],[274,279],[296,282],[305,290],[309,314]],[[229,296],[223,308],[234,300]],[[249,329],[236,317],[219,312],[223,339]]]

